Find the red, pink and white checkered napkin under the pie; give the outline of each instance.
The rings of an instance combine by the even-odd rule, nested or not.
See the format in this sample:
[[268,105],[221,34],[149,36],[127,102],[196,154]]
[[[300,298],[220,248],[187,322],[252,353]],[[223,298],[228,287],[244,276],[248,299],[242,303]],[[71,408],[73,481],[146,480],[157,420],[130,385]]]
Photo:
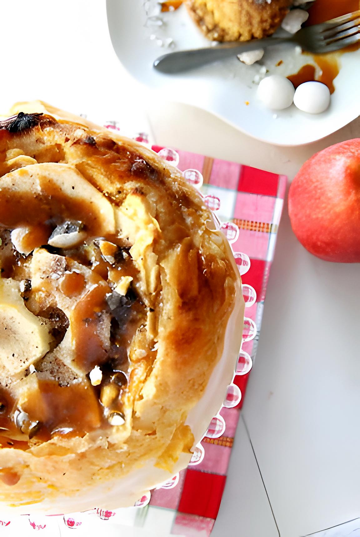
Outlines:
[[[153,149],[156,152],[161,150],[158,146],[153,146]],[[210,207],[218,209],[215,214],[220,221],[233,222],[239,228],[239,236],[232,248],[234,252],[244,252],[250,258],[250,269],[242,276],[242,282],[243,290],[247,289],[244,293],[248,306],[246,317],[255,322],[257,331],[253,339],[242,344],[233,380],[239,391],[235,394],[228,392],[227,402],[219,412],[225,422],[225,428],[220,424],[220,436],[218,418],[214,418],[201,441],[202,453],[193,457],[189,467],[174,478],[172,485],[169,482],[164,488],[152,491],[149,504],[139,512],[139,519],[135,519],[134,523],[139,523],[144,529],[152,529],[156,521],[156,527],[161,528],[164,534],[206,537],[210,535],[219,511],[236,425],[256,354],[286,176],[195,153],[177,153],[181,171],[196,169],[202,173],[204,183],[201,192],[205,198],[220,200],[219,208],[216,201],[210,204]],[[253,300],[248,293],[251,288],[256,293],[256,301],[252,305]],[[245,324],[245,332],[247,329]],[[232,404],[234,398],[235,406]]]

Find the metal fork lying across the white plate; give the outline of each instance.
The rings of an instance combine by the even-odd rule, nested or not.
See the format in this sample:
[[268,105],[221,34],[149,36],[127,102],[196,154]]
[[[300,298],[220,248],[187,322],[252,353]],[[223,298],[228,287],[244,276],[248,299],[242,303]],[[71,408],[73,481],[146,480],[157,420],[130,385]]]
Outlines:
[[354,45],[357,42],[360,43],[360,10],[327,20],[322,24],[301,28],[296,34],[289,35],[289,37],[270,37],[246,42],[230,41],[212,47],[171,52],[157,58],[153,66],[163,73],[175,74],[223,60],[241,52],[281,45],[282,43],[294,43],[300,45],[307,52],[323,54]]

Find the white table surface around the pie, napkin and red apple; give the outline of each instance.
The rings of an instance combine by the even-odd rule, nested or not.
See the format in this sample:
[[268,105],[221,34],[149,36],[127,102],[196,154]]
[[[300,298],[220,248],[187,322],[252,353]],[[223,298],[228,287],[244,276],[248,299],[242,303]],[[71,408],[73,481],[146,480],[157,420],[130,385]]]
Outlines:
[[[0,20],[1,112],[37,98],[95,117],[132,108],[138,121],[146,111],[159,144],[290,179],[315,151],[360,137],[357,119],[325,140],[284,149],[157,101],[117,61],[104,0],[3,1]],[[298,537],[360,516],[359,281],[358,264],[309,255],[285,209],[214,537]]]

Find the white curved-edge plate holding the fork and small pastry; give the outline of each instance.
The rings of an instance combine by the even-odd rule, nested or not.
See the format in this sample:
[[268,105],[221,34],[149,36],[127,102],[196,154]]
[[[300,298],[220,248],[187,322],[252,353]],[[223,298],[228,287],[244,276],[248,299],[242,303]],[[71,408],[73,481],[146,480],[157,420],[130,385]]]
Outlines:
[[[156,90],[158,95],[203,108],[258,140],[283,146],[320,140],[359,114],[360,50],[341,56],[336,90],[326,112],[310,115],[292,105],[274,114],[262,108],[256,99],[257,85],[253,80],[260,70],[258,64],[245,66],[234,57],[186,74],[163,75],[155,71],[152,64],[157,56],[177,49],[208,46],[209,42],[192,23],[185,6],[161,13],[163,26],[146,26],[145,3],[146,0],[107,0],[107,19],[120,62],[135,79]],[[159,40],[150,36],[162,41],[172,38],[175,46],[161,47]],[[280,59],[283,64],[276,67]],[[273,47],[263,60],[270,73],[285,75],[309,63],[309,57],[297,54],[292,46]]]

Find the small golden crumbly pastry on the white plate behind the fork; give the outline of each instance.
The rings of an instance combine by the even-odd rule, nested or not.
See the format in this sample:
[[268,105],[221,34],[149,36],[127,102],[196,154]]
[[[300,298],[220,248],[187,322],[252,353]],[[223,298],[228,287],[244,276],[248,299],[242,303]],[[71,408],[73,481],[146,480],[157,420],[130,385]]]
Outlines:
[[291,0],[185,0],[193,20],[213,41],[249,41],[271,35]]

